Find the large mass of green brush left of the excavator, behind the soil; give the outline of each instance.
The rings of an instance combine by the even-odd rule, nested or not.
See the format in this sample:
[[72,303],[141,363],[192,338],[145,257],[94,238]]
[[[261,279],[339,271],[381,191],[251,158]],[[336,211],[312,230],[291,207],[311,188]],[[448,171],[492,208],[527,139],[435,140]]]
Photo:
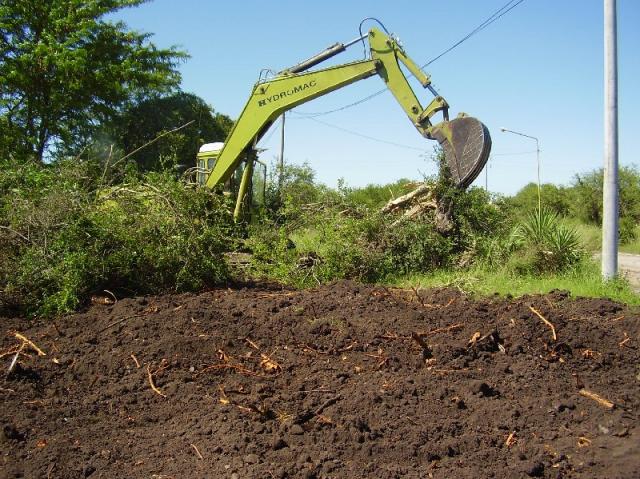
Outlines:
[[0,165],[1,302],[72,311],[91,293],[198,290],[228,277],[230,208],[169,174],[100,184],[91,162]]

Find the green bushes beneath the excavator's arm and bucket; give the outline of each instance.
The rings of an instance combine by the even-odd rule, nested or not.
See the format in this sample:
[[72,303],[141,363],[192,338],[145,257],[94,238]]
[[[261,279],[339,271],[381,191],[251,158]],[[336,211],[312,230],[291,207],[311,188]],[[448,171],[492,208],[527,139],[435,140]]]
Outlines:
[[[461,191],[432,182],[450,209],[450,226],[443,232],[434,211],[412,220],[383,214],[380,194],[389,191],[386,187],[332,191],[317,186],[306,167],[290,171],[294,174],[283,182],[286,194],[279,216],[253,225],[247,240],[254,273],[286,283],[306,286],[342,278],[377,282],[470,264],[489,248],[490,236],[507,229],[504,216],[480,189]],[[389,188],[405,187],[398,182]],[[277,185],[270,188],[277,191]]]

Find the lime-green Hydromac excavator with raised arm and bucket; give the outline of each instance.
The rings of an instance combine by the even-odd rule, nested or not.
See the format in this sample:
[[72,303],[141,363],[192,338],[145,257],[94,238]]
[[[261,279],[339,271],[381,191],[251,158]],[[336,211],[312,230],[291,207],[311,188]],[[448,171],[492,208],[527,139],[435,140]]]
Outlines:
[[[308,71],[348,47],[367,40],[368,59]],[[421,105],[400,64],[433,94],[434,98],[426,107]],[[433,88],[429,75],[407,56],[397,38],[377,28],[348,43],[336,43],[272,78],[259,80],[226,141],[209,143],[200,149],[197,157],[198,182],[209,188],[226,185],[227,189],[236,190],[234,218],[237,220],[242,214],[257,161],[256,145],[274,121],[298,105],[374,75],[382,79],[418,132],[440,143],[456,184],[461,188],[469,186],[489,158],[489,130],[479,120],[464,113],[449,120],[449,104]],[[437,114],[442,115],[442,121],[434,123],[433,118]]]

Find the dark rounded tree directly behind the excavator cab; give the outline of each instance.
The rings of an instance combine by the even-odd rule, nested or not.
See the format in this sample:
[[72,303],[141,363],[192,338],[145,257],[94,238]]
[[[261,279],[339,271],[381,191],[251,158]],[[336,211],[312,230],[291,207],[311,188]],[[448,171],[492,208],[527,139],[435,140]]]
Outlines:
[[131,156],[141,170],[160,170],[175,162],[195,166],[198,148],[203,143],[224,141],[233,121],[226,115],[214,114],[202,98],[178,92],[146,99],[127,109],[115,124],[115,136],[120,139],[124,152],[132,152],[184,125],[187,126],[166,134]]

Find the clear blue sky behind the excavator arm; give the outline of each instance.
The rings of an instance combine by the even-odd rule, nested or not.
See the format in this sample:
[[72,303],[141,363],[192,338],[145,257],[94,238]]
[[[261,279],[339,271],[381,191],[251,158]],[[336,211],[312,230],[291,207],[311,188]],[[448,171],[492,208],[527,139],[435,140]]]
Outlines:
[[[335,42],[358,36],[360,21],[379,18],[407,53],[424,64],[451,46],[507,0],[447,2],[155,0],[117,18],[153,33],[158,46],[177,45],[191,59],[181,66],[182,88],[216,111],[236,118],[263,68],[291,66]],[[427,68],[451,105],[491,131],[491,191],[511,194],[536,178],[535,143],[500,127],[540,139],[542,181],[569,183],[603,163],[602,0],[525,0],[504,17]],[[620,163],[640,164],[640,2],[618,0]],[[365,24],[365,29],[372,24]],[[361,59],[356,45],[331,63]],[[297,108],[323,112],[383,87],[377,77]],[[431,96],[415,86],[426,104]],[[308,162],[320,181],[335,185],[386,183],[432,174],[433,142],[423,139],[385,92],[347,110],[287,117],[285,158]],[[260,146],[263,160],[279,151],[278,124]],[[351,130],[411,148],[374,142]],[[267,139],[268,138],[268,139]],[[420,151],[423,150],[423,151]],[[484,172],[476,184],[484,185]]]

